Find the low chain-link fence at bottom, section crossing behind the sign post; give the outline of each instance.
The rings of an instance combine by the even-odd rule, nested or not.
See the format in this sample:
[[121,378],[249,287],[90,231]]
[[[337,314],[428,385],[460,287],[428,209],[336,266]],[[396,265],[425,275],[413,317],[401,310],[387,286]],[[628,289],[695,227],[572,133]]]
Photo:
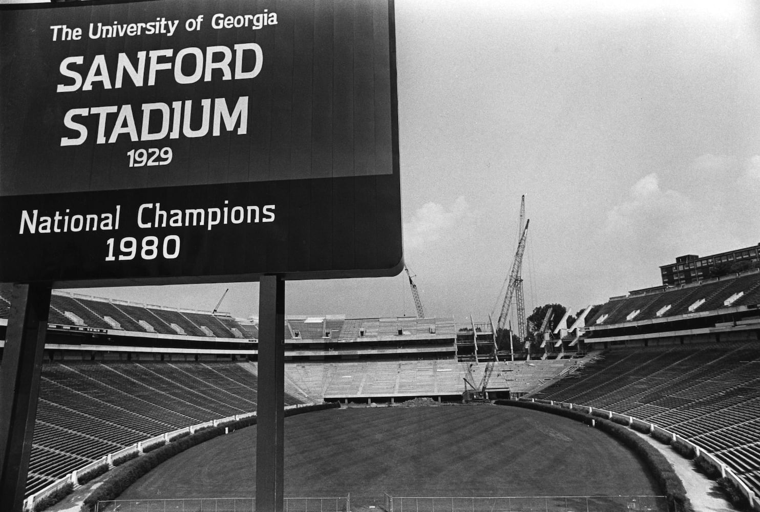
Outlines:
[[[283,498],[285,512],[348,512],[350,495],[339,498]],[[98,501],[95,512],[255,512],[256,498],[179,498]]]

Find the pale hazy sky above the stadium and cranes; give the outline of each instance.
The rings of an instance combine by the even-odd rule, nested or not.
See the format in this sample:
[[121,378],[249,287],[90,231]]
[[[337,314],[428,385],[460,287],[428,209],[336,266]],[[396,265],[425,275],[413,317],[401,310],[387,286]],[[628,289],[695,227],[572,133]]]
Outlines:
[[[499,315],[525,194],[527,313],[760,242],[753,2],[396,0],[404,258],[428,316]],[[258,283],[77,289],[258,315]],[[397,277],[286,283],[287,314],[415,315]],[[496,318],[494,318],[496,321]]]

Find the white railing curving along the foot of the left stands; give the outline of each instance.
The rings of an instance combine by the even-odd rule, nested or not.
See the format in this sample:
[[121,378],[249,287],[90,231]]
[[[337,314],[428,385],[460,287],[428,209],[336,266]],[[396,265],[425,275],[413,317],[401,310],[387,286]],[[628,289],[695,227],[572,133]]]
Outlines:
[[[308,405],[309,404],[296,404],[293,406],[285,406],[285,410],[297,409],[299,407]],[[100,466],[107,465],[108,468],[111,469],[113,467],[114,459],[118,460],[120,457],[132,453],[137,453],[139,455],[142,454],[144,449],[147,447],[154,447],[156,445],[170,443],[176,438],[184,437],[185,434],[193,434],[195,431],[200,430],[201,428],[224,426],[226,424],[236,422],[239,419],[249,418],[251,416],[256,416],[256,412],[245,412],[244,414],[236,414],[235,416],[227,416],[226,418],[214,419],[208,422],[198,423],[198,425],[190,425],[189,427],[179,428],[178,430],[166,432],[165,434],[157,435],[153,438],[145,439],[144,441],[138,441],[135,444],[131,444],[128,447],[122,448],[122,450],[104,455],[103,457],[100,457],[100,459],[94,460],[92,463],[87,464],[87,466],[82,466],[81,468],[74,469],[74,471],[68,473],[68,475],[63,476],[61,479],[52,482],[52,484],[48,485],[46,488],[40,489],[40,491],[36,491],[33,495],[30,495],[28,498],[26,498],[26,500],[24,500],[24,510],[34,510],[34,504],[36,502],[48,497],[49,495],[54,494],[62,488],[65,488],[66,485],[71,484],[74,485],[74,488],[78,488],[78,476],[90,472],[93,469],[97,469]]]

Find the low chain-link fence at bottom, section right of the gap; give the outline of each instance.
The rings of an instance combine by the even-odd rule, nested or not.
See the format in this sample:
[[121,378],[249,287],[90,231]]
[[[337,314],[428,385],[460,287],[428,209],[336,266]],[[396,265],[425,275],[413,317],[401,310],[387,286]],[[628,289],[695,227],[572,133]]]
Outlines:
[[[385,493],[387,512],[667,512],[665,496],[399,497]],[[122,512],[128,512],[122,510]]]

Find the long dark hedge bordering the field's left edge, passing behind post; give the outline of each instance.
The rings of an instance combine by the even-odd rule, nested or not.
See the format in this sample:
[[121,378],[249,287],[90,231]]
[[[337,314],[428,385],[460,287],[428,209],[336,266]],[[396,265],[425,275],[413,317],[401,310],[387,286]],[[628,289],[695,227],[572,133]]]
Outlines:
[[[297,409],[286,409],[285,416],[295,416],[296,414],[302,414],[304,412],[312,412],[322,409],[336,409],[339,407],[340,403],[319,403],[306,407],[299,407]],[[230,423],[225,423],[221,426],[198,429],[192,435],[187,435],[179,438],[177,441],[164,444],[163,446],[157,447],[156,450],[144,454],[142,457],[130,460],[128,463],[113,469],[112,475],[110,475],[103,484],[93,489],[90,495],[84,500],[84,510],[94,510],[98,501],[110,501],[119,498],[119,495],[121,495],[126,488],[149,472],[150,469],[154,469],[154,467],[158,466],[163,461],[174,457],[176,454],[179,454],[190,447],[194,447],[196,444],[201,444],[204,441],[208,441],[209,439],[216,438],[218,435],[224,434],[225,428],[236,430],[237,428],[248,427],[255,424],[256,416],[249,416]]]

